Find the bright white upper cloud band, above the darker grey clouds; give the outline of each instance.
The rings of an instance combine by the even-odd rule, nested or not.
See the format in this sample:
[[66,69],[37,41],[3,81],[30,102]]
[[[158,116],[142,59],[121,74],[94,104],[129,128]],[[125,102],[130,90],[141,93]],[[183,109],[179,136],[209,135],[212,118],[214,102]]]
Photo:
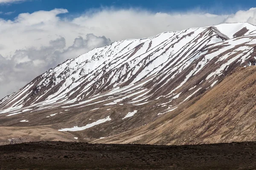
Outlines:
[[227,17],[198,13],[151,13],[134,9],[90,11],[73,20],[58,17],[58,14],[67,12],[66,9],[54,9],[19,14],[13,21],[0,19],[0,54],[11,57],[17,49],[31,46],[40,48],[60,36],[65,38],[67,46],[71,46],[76,37],[86,34],[105,36],[116,41],[150,37],[163,31],[214,25]]

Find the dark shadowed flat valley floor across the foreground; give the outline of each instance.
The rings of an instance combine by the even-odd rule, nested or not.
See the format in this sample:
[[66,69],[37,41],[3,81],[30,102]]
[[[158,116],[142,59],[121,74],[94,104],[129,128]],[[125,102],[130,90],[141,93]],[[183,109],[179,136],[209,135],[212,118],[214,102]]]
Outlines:
[[256,142],[183,146],[29,142],[0,146],[0,169],[256,170]]

